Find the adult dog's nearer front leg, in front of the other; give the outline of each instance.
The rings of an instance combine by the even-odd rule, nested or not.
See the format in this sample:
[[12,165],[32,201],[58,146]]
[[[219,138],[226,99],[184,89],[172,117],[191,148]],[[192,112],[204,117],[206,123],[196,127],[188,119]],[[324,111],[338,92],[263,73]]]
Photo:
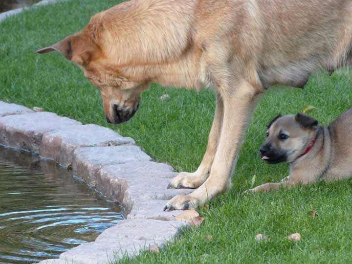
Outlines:
[[210,176],[193,193],[172,198],[164,210],[197,208],[225,192],[231,185],[237,154],[260,92],[246,81],[241,81],[234,90],[226,87],[220,90],[224,115]]

